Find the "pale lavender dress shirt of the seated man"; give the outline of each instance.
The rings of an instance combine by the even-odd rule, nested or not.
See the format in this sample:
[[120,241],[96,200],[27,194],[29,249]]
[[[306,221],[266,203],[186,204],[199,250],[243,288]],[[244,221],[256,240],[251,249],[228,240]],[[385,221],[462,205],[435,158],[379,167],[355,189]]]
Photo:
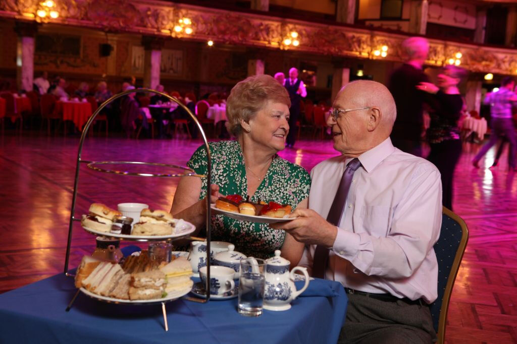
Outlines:
[[[346,163],[334,157],[311,172],[309,208],[326,218]],[[429,161],[394,148],[387,138],[359,156],[326,279],[371,293],[431,303],[437,297],[433,245],[442,224],[440,173]],[[300,265],[312,267],[316,245]]]

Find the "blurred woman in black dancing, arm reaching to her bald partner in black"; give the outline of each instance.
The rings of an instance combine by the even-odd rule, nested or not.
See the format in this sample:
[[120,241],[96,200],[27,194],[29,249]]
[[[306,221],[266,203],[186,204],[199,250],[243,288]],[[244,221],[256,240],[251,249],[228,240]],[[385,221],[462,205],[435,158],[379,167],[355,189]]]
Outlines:
[[454,169],[461,156],[461,139],[458,121],[462,114],[463,99],[458,84],[467,72],[455,65],[448,65],[438,74],[438,86],[420,83],[417,88],[432,94],[430,99],[431,124],[427,138],[431,146],[429,161],[440,171],[442,178],[442,204],[452,210]]

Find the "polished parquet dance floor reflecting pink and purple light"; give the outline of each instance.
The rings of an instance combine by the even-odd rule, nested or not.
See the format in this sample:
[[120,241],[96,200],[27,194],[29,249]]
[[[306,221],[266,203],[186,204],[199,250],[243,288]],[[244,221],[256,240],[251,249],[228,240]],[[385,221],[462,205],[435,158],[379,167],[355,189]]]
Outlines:
[[[0,137],[0,292],[63,271],[79,139]],[[88,138],[83,159],[150,161],[184,166],[201,141]],[[491,150],[477,170],[479,150],[465,144],[455,172],[454,211],[467,223],[470,240],[452,293],[448,343],[517,342],[517,173],[507,164],[489,170]],[[300,141],[280,155],[310,170],[337,155],[329,141]],[[506,155],[503,157],[506,159]],[[147,172],[152,172],[146,169]],[[90,203],[121,202],[170,209],[178,179],[99,173],[81,167],[75,215]],[[95,246],[75,225],[71,267]]]

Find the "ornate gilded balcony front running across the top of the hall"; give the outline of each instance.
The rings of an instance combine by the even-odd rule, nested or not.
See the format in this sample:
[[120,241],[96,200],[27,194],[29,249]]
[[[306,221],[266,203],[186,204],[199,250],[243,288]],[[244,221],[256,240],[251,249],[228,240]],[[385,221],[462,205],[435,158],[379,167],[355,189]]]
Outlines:
[[[34,20],[40,0],[3,0],[0,17]],[[400,43],[407,36],[382,31],[286,20],[265,15],[160,2],[155,0],[55,0],[59,18],[53,23],[134,32],[161,37],[288,48],[294,51],[341,57],[382,58],[374,54],[387,46],[386,60],[401,61]],[[32,14],[31,14],[32,13]],[[31,17],[33,15],[33,17]],[[175,31],[178,21],[188,18],[190,34]],[[298,33],[299,45],[286,46],[290,32]],[[517,74],[517,51],[431,40],[428,63],[443,65],[455,52],[462,52],[462,67],[476,72]]]

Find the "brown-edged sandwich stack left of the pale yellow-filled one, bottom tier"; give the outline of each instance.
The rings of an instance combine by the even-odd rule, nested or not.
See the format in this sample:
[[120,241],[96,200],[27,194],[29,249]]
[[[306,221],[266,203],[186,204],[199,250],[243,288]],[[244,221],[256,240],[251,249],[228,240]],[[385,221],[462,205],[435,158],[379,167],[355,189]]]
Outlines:
[[151,270],[131,274],[130,300],[150,300],[164,297],[165,274]]

